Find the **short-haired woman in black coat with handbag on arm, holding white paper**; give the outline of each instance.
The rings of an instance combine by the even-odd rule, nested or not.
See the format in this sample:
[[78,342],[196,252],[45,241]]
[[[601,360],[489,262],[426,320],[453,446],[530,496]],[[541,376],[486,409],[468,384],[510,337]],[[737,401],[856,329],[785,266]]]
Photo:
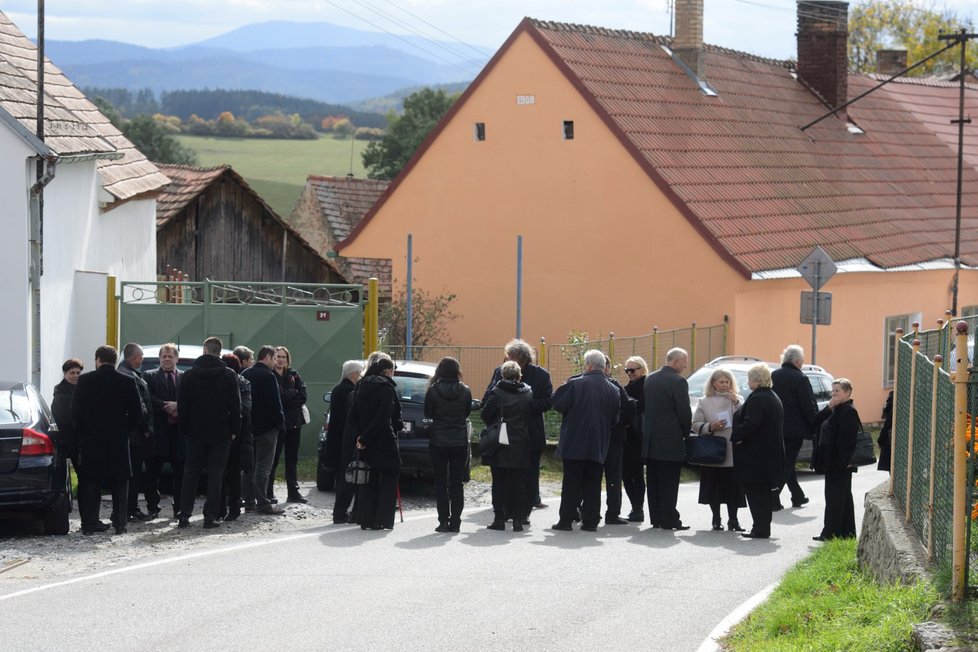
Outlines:
[[[525,476],[530,468],[530,414],[533,390],[520,381],[520,366],[508,360],[500,367],[502,380],[486,393],[482,420],[486,425],[506,424],[507,446],[500,446],[489,460],[492,467],[492,510],[490,530],[506,529],[506,518],[513,519],[513,532],[523,531],[526,507]],[[483,459],[485,463],[487,460]]]

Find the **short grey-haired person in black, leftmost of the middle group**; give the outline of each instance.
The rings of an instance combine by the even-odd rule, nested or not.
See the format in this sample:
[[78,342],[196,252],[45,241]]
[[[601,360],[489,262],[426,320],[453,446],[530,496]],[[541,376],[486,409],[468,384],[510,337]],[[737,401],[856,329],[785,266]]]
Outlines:
[[[325,464],[334,469],[336,499],[333,501],[333,523],[355,523],[356,516],[350,514],[350,505],[356,496],[356,487],[346,483],[345,470],[353,461],[356,446],[355,437],[345,437],[346,417],[350,413],[351,397],[360,376],[363,375],[363,360],[347,360],[343,363],[340,382],[329,394],[329,426],[326,438]],[[356,509],[354,509],[354,514]]]

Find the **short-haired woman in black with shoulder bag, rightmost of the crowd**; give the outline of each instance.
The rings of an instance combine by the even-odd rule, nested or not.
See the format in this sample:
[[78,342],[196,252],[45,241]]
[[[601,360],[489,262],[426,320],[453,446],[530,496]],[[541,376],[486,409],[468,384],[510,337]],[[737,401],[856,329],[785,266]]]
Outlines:
[[852,474],[849,464],[856,448],[856,435],[862,429],[859,413],[852,405],[852,383],[846,378],[832,382],[832,398],[815,415],[815,450],[812,468],[825,474],[825,523],[815,541],[856,536],[856,516],[852,505]]

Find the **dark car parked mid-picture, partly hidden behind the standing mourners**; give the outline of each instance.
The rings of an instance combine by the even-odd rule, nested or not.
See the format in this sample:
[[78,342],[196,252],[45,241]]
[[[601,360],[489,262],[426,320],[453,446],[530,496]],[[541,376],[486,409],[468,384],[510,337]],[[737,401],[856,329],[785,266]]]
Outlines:
[[[397,361],[394,370],[394,383],[397,385],[397,397],[401,401],[401,418],[404,429],[397,434],[397,447],[401,452],[401,474],[411,476],[430,476],[431,455],[428,452],[428,435],[431,420],[424,416],[424,395],[428,381],[435,373],[437,366],[431,362]],[[343,433],[329,431],[329,401],[330,393],[323,395],[326,402],[326,416],[323,428],[319,433],[319,463],[316,465],[316,486],[321,491],[331,491],[337,471],[326,463],[326,442],[329,437],[342,437]],[[472,410],[478,410],[482,404],[472,401]],[[469,432],[472,426],[469,422]]]

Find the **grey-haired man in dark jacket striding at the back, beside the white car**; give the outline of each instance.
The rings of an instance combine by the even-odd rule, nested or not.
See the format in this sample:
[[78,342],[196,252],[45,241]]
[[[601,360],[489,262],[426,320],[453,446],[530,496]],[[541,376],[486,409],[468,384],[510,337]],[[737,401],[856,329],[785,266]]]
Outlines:
[[[798,461],[798,451],[801,450],[802,443],[811,439],[815,433],[813,424],[818,413],[812,385],[801,370],[804,364],[805,350],[797,344],[791,344],[781,354],[781,368],[771,373],[774,393],[781,399],[781,406],[784,408],[784,479],[791,492],[793,507],[801,507],[808,502],[808,496],[798,484],[795,463]],[[781,490],[772,496],[771,509],[775,512],[784,508],[780,496]]]

